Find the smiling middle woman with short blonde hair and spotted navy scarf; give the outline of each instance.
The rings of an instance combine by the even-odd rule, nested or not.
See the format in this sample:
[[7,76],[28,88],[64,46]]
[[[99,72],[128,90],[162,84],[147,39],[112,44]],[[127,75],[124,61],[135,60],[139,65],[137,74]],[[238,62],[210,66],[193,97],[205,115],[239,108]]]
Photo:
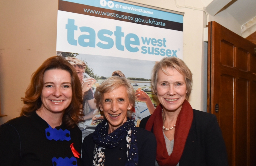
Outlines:
[[154,134],[136,128],[129,118],[135,103],[130,81],[125,77],[109,77],[97,87],[95,101],[105,120],[83,141],[84,166],[154,166]]

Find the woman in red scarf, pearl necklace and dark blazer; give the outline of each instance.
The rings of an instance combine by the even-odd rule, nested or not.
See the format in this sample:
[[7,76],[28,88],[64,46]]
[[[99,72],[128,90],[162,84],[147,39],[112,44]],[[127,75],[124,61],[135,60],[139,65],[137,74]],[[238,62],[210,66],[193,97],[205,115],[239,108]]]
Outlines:
[[215,115],[192,109],[192,73],[179,58],[166,57],[152,71],[160,104],[140,127],[155,134],[156,165],[227,166],[227,153]]

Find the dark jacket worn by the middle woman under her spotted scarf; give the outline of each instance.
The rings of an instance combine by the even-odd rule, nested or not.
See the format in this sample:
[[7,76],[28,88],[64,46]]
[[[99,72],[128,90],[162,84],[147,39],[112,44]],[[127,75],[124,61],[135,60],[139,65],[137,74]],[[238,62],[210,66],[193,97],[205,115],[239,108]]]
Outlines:
[[[142,128],[137,129],[137,145],[139,161],[138,166],[155,166],[156,139],[154,134]],[[93,165],[93,133],[85,137],[82,144],[82,164],[84,166]],[[117,147],[105,149],[105,166],[125,166],[126,139],[122,140]]]

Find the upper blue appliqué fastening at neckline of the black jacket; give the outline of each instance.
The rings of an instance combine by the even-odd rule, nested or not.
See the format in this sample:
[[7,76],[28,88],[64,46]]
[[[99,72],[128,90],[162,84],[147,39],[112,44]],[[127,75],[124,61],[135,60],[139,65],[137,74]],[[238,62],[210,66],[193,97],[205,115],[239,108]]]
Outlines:
[[48,140],[71,140],[70,131],[67,129],[63,131],[62,129],[57,130],[56,128],[52,128],[49,124],[48,126],[49,127],[45,129],[45,135]]

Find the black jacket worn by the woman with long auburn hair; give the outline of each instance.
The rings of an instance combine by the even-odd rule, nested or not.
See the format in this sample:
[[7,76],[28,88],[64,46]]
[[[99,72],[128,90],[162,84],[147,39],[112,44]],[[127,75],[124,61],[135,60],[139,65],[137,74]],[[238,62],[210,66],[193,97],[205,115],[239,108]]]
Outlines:
[[[45,129],[48,124],[35,112],[29,117],[18,117],[0,126],[0,165],[1,166],[52,166],[56,157],[74,157],[70,144],[81,154],[82,132],[76,126],[68,129],[71,140],[48,140]],[[64,124],[56,127],[65,130]],[[81,159],[75,158],[66,166],[81,165]],[[65,160],[66,161],[66,160]],[[73,162],[75,161],[75,162]]]

